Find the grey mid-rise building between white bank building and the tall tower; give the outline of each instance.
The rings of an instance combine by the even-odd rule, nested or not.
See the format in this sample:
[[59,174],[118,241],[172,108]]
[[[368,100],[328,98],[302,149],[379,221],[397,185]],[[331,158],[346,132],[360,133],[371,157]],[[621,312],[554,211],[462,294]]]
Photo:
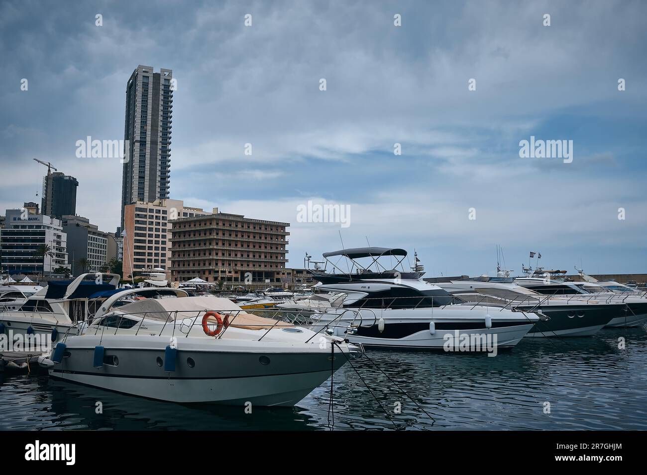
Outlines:
[[[98,272],[108,261],[109,233],[99,231],[83,216],[63,216],[63,231],[67,234],[67,251],[71,258],[72,274]],[[81,260],[87,261],[86,266]]]

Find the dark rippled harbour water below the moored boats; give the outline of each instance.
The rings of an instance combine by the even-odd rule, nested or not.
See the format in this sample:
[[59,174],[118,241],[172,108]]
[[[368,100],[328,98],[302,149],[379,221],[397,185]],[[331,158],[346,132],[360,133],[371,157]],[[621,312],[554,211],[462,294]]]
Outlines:
[[[620,337],[626,350],[618,348]],[[368,356],[388,377],[367,360],[353,362],[357,372],[349,364],[338,371],[335,430],[647,429],[644,327],[523,339],[496,357],[380,350]],[[0,374],[0,430],[327,430],[329,391],[330,381],[294,408],[245,414],[241,407],[163,403],[46,376]],[[95,413],[96,401],[103,414]],[[393,414],[397,402],[401,414]]]

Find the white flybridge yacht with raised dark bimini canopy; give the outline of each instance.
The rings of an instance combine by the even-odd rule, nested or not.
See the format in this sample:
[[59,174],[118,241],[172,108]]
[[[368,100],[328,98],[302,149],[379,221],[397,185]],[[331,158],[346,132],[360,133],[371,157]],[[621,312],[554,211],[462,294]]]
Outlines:
[[[461,299],[421,279],[418,260],[406,271],[406,255],[404,249],[374,247],[323,254],[325,267],[311,271],[316,288],[346,297],[340,306],[314,313],[311,321],[326,322],[336,335],[368,346],[454,351],[457,338],[496,341],[498,348],[515,346],[540,319],[532,312],[460,305]],[[346,259],[346,270],[332,262],[334,257]],[[362,258],[369,262],[363,265]],[[330,273],[328,265],[333,266]]]

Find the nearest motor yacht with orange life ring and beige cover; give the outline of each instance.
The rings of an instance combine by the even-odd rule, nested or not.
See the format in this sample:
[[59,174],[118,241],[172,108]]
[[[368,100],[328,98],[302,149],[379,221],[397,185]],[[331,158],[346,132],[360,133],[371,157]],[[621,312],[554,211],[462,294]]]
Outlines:
[[182,293],[118,308],[122,294],[107,299],[79,335],[61,339],[50,375],[177,403],[292,406],[363,353],[330,332]]

